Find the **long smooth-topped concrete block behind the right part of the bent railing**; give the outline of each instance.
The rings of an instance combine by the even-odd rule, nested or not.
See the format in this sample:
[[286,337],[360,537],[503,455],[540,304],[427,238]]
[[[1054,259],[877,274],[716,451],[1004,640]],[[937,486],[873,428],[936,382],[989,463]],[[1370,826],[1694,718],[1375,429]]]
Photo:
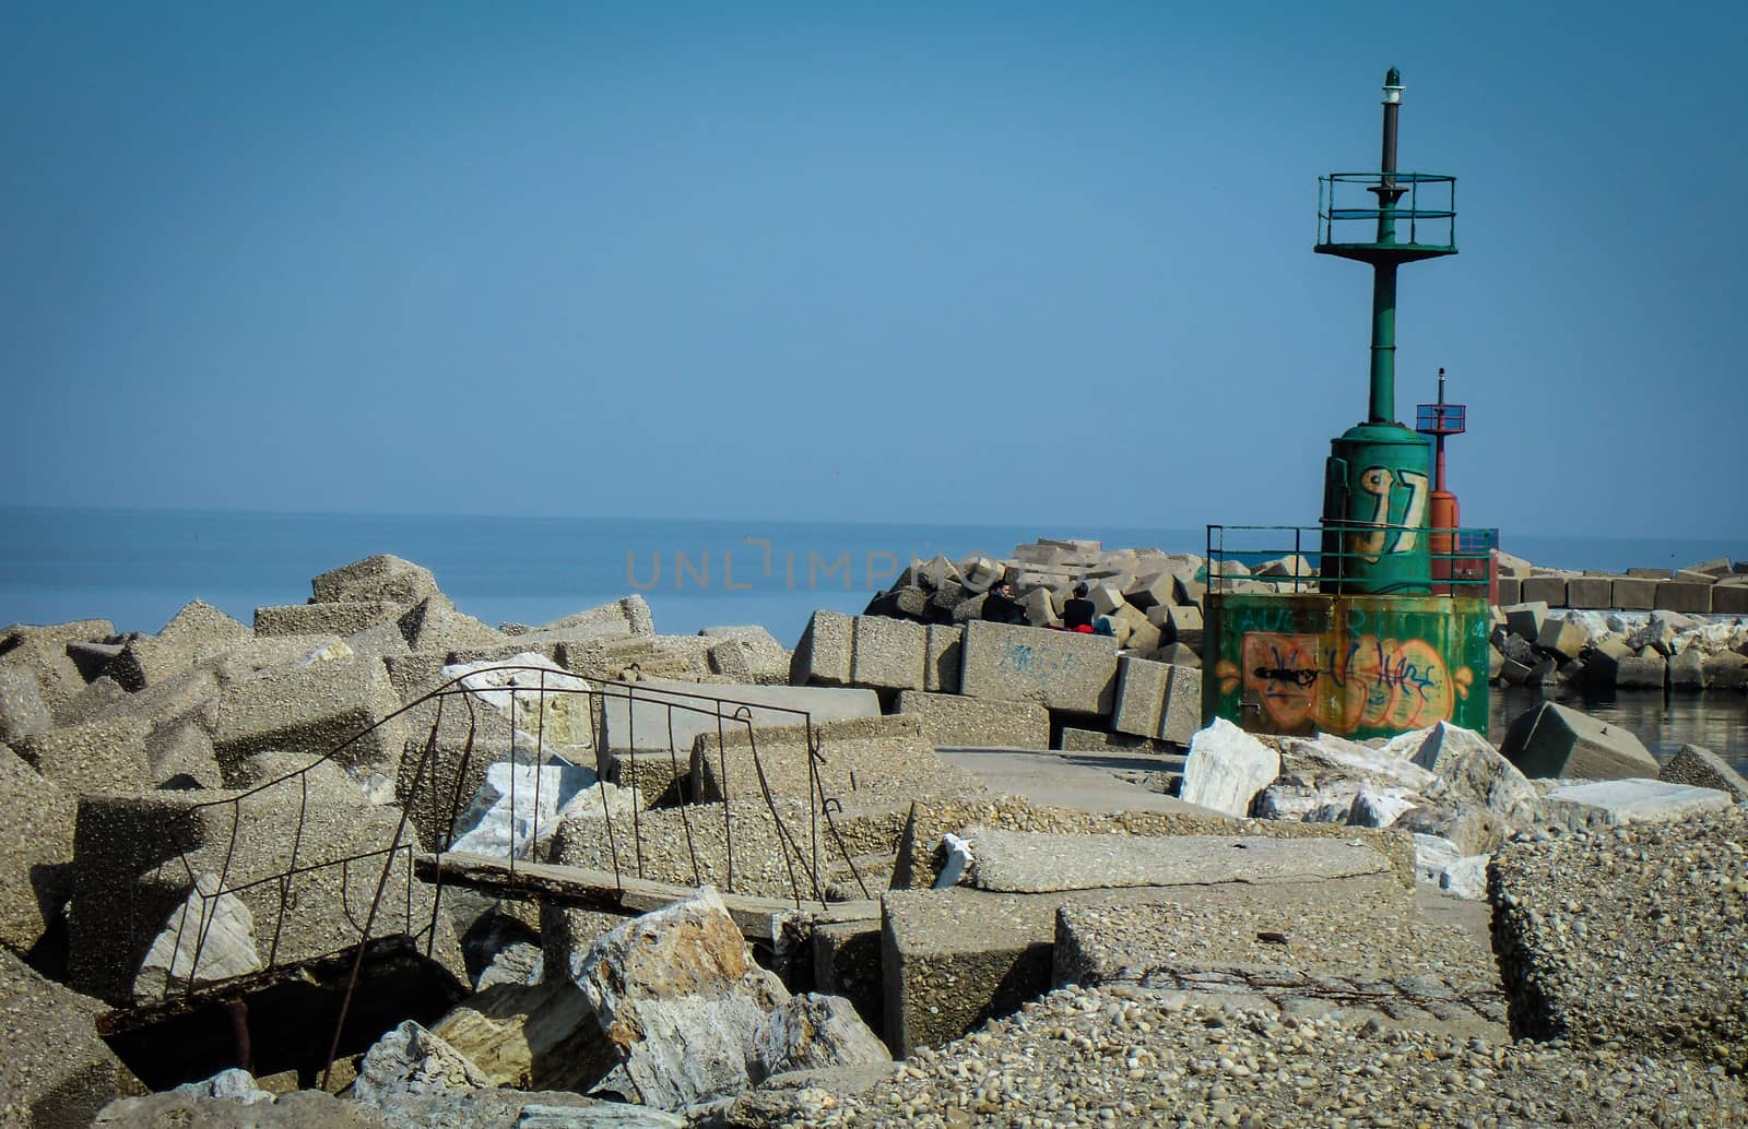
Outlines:
[[668,750],[669,720],[673,748],[682,755],[697,734],[715,738],[746,731],[734,713],[746,704],[757,729],[801,725],[858,717],[879,717],[879,696],[867,689],[783,687],[745,683],[696,683],[649,678],[610,687],[601,703],[607,750]]

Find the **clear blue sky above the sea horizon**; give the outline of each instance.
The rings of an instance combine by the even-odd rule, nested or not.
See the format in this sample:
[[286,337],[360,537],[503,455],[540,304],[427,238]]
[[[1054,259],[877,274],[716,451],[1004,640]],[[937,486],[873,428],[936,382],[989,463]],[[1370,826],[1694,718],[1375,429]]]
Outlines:
[[1316,521],[1404,267],[1470,524],[1748,528],[1748,5],[0,5],[0,505]]

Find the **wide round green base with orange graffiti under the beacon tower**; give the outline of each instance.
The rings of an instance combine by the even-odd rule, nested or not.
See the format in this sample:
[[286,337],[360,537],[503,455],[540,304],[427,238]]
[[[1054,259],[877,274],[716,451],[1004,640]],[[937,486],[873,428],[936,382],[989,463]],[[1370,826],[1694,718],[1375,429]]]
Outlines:
[[1486,599],[1208,592],[1203,722],[1390,738],[1488,732]]

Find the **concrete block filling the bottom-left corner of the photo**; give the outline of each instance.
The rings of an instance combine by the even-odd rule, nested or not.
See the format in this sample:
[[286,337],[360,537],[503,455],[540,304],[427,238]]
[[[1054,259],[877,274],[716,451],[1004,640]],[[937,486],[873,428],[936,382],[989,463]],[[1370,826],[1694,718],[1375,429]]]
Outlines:
[[[145,1092],[98,1035],[103,1003],[37,975],[10,952],[0,952],[0,986],[7,1129],[77,1129],[117,1098]],[[164,1124],[187,1124],[187,1113]]]

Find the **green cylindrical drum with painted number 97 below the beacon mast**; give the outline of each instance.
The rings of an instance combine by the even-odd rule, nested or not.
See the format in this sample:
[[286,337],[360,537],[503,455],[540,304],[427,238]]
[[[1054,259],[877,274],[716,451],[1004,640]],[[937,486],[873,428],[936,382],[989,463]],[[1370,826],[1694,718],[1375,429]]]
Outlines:
[[1430,592],[1430,498],[1432,446],[1419,432],[1400,423],[1360,423],[1332,439],[1323,477],[1321,589]]

